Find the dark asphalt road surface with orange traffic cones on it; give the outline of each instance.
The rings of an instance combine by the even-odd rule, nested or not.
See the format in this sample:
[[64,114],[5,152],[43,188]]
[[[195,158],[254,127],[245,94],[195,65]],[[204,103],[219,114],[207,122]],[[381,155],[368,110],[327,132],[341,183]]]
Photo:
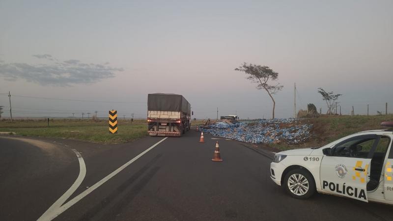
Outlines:
[[[0,138],[0,220],[37,220],[51,207],[80,172],[72,149],[81,153],[86,175],[65,204],[161,139],[118,145],[44,139],[53,146],[43,150]],[[194,131],[167,138],[55,220],[393,220],[389,205],[324,194],[294,199],[270,180],[268,157],[237,141],[198,140]],[[217,140],[223,162],[211,161]]]

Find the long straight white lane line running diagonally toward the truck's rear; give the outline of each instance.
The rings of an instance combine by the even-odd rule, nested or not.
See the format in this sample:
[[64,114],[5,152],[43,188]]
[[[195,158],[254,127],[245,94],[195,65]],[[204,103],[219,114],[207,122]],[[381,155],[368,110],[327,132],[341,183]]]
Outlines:
[[79,200],[83,199],[86,195],[88,195],[89,193],[93,192],[95,189],[97,189],[101,185],[103,185],[105,182],[107,182],[109,179],[111,179],[113,176],[115,176],[121,170],[123,170],[124,168],[126,168],[130,164],[134,163],[134,161],[138,160],[141,156],[143,156],[145,153],[149,152],[151,149],[156,147],[158,144],[160,144],[162,141],[166,140],[167,138],[168,137],[161,139],[160,141],[155,143],[153,146],[147,148],[145,151],[140,153],[138,156],[134,157],[129,162],[125,163],[123,166],[120,166],[119,168],[114,170],[112,173],[110,173],[109,175],[104,177],[102,180],[98,181],[96,184],[91,186],[89,189],[87,189],[84,192],[80,193],[79,195],[75,196],[73,199],[71,199],[70,201],[68,201],[64,205],[62,205],[59,208],[57,208],[55,211],[52,211],[52,213],[48,214],[48,216],[46,217],[46,221],[51,221],[51,220],[55,219],[58,215],[60,215],[61,213],[66,211],[68,208],[73,206],[75,203],[77,203]]

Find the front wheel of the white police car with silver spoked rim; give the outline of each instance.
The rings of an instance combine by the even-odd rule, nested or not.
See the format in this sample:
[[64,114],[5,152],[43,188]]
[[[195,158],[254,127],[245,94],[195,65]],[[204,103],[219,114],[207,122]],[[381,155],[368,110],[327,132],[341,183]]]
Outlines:
[[304,169],[289,171],[282,184],[287,193],[298,199],[307,199],[315,193],[315,182],[312,175]]

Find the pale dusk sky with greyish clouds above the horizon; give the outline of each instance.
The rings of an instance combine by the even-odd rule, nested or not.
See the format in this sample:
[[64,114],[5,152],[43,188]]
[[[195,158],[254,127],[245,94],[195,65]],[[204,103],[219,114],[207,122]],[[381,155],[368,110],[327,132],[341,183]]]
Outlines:
[[[235,71],[279,73],[276,117],[343,94],[342,113],[393,112],[393,1],[0,0],[0,106],[13,116],[146,117],[148,93],[182,94],[196,118],[270,118]],[[43,99],[43,98],[56,98]],[[78,101],[77,101],[78,100]]]

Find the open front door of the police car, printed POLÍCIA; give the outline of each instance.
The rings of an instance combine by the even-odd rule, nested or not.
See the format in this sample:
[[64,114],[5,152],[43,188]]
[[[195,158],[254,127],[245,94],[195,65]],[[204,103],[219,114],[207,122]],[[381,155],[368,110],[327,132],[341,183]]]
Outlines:
[[376,135],[361,135],[337,143],[321,161],[322,190],[368,202],[366,185]]

